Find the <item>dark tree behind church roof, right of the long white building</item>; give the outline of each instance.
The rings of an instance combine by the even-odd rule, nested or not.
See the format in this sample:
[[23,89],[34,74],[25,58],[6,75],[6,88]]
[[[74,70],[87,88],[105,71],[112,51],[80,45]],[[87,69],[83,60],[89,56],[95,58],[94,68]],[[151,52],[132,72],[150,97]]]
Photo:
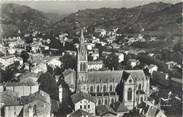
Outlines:
[[119,58],[115,53],[111,53],[105,60],[104,60],[104,65],[108,67],[110,70],[112,69],[118,69],[119,65]]

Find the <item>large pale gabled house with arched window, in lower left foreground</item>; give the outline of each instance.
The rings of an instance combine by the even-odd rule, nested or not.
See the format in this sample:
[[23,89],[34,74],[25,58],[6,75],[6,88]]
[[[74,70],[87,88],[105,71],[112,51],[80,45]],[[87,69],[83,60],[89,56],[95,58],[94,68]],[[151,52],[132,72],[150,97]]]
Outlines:
[[[22,110],[23,117],[50,117],[51,115],[50,96],[44,91],[38,91],[30,96],[22,97],[21,104],[24,106]],[[29,113],[30,109],[33,112]]]

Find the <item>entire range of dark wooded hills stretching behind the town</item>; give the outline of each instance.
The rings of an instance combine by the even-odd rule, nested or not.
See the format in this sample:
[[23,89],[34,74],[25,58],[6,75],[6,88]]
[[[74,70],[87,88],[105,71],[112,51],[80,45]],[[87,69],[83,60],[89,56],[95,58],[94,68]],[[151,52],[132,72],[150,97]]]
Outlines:
[[44,13],[18,4],[3,4],[1,25],[4,36],[17,34],[18,30],[27,33],[32,30],[52,32],[75,32],[76,22],[88,29],[103,27],[119,28],[121,33],[145,32],[181,34],[183,3],[150,3],[133,8],[100,8],[79,10],[67,16]]

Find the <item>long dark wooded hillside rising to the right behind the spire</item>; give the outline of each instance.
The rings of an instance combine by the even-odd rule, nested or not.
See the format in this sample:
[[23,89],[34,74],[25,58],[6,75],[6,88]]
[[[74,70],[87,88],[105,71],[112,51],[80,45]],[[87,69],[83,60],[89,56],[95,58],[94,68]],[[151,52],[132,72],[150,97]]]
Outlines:
[[[100,8],[80,10],[50,26],[53,31],[76,29],[76,22],[85,27],[118,27],[120,32],[135,33],[141,28],[145,31],[181,33],[182,3],[150,3],[134,8]],[[172,27],[172,28],[170,28]],[[173,31],[172,31],[173,30]]]

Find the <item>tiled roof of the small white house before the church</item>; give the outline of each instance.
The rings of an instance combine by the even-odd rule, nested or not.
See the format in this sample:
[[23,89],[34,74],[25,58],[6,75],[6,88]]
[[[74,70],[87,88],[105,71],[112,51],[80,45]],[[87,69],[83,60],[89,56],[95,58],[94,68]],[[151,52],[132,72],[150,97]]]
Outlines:
[[79,92],[79,93],[75,93],[71,96],[72,102],[73,103],[77,103],[79,101],[81,101],[82,99],[87,99],[89,101],[95,102],[94,98],[88,94],[88,93],[84,93],[84,92]]

